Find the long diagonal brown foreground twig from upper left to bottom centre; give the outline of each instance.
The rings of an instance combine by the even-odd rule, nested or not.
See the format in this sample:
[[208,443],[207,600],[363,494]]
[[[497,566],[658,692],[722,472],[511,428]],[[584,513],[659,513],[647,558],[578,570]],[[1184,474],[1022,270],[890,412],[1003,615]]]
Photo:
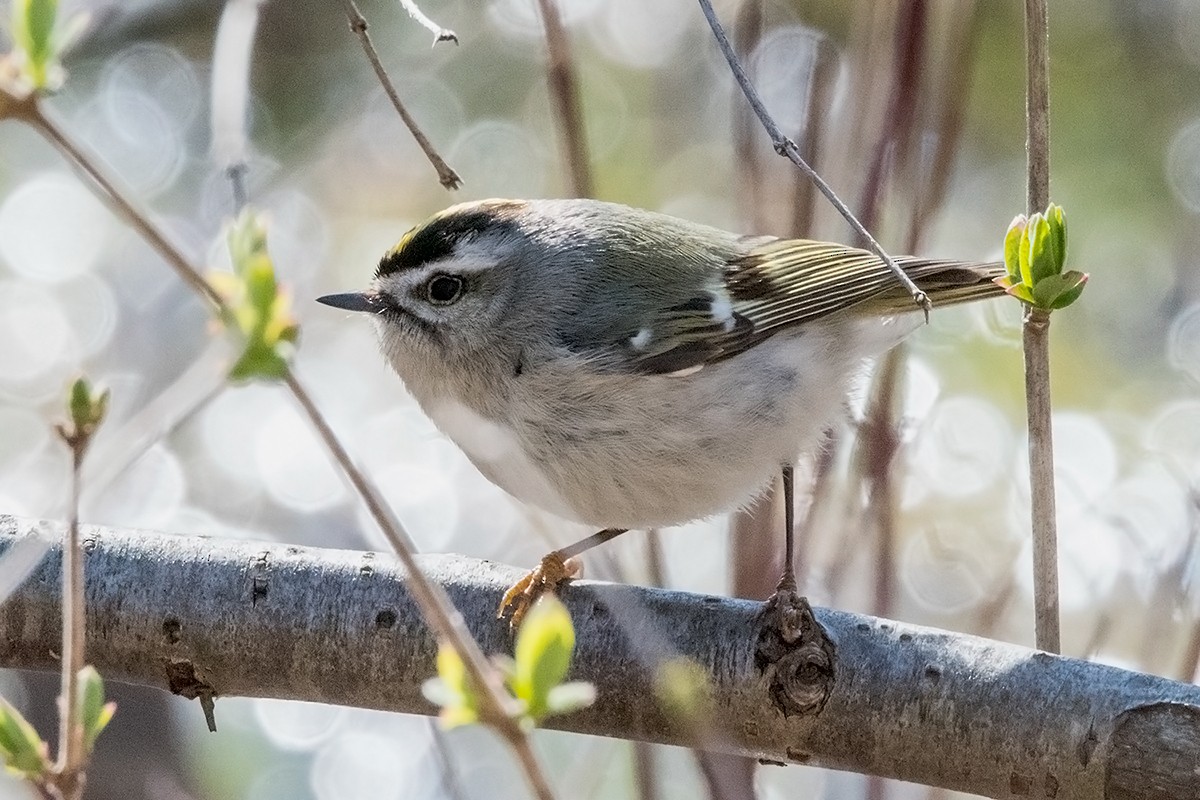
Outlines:
[[[128,198],[118,191],[114,181],[103,174],[98,163],[84,152],[77,143],[72,142],[61,126],[48,116],[41,106],[37,107],[36,114],[29,121],[53,140],[73,166],[91,178],[92,185],[100,190],[98,194],[101,199],[107,200],[134,230],[142,234],[167,263],[175,269],[188,287],[209,300],[215,311],[224,311],[226,305],[221,300],[221,296],[208,284],[199,270],[187,260],[181,251],[167,241],[166,236],[154,225],[146,213],[142,212]],[[538,769],[538,764],[532,757],[532,751],[528,750],[524,732],[514,718],[514,703],[504,691],[499,674],[488,663],[475,639],[472,638],[470,632],[463,622],[462,614],[454,607],[445,590],[433,584],[420,571],[413,555],[414,548],[412,541],[404,533],[400,521],[382,500],[378,489],[374,488],[366,475],[350,459],[349,453],[342,447],[329,423],[312,402],[307,390],[290,369],[284,374],[283,384],[300,403],[322,441],[329,449],[330,455],[337,462],[338,467],[342,468],[371,516],[408,570],[409,589],[413,593],[414,601],[416,601],[418,607],[425,615],[425,620],[430,627],[437,631],[439,639],[448,643],[461,656],[472,681],[480,691],[481,716],[488,723],[493,724],[500,735],[514,746],[518,760],[526,770],[526,777],[534,788],[538,798],[540,800],[551,800],[553,794],[550,790],[550,784],[545,775]],[[524,744],[518,746],[514,742]],[[522,752],[522,747],[527,752]]]

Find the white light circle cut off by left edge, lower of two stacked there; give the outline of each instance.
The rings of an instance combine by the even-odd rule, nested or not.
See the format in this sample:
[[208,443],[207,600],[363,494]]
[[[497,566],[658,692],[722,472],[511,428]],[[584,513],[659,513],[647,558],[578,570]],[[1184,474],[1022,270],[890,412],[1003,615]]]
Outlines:
[[52,293],[24,281],[0,282],[0,387],[58,372],[72,338],[71,320]]

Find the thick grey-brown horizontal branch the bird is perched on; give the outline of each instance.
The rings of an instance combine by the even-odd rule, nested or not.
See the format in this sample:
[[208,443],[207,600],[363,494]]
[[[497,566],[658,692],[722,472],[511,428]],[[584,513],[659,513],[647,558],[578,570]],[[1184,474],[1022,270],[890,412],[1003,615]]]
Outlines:
[[[40,528],[0,516],[0,552]],[[95,527],[80,535],[88,654],[106,678],[187,697],[434,711],[420,686],[436,643],[391,555]],[[60,555],[55,545],[0,606],[0,666],[58,668]],[[510,650],[496,606],[515,569],[457,555],[420,564],[486,651]],[[571,676],[599,696],[553,721],[564,730],[690,746],[702,727],[708,748],[992,798],[1200,796],[1196,686],[817,609],[832,684],[812,712],[787,715],[756,655],[760,603],[594,582],[571,584],[564,600],[578,639]],[[680,656],[710,681],[719,711],[704,726],[655,702],[656,666]],[[811,678],[803,664],[793,676]]]

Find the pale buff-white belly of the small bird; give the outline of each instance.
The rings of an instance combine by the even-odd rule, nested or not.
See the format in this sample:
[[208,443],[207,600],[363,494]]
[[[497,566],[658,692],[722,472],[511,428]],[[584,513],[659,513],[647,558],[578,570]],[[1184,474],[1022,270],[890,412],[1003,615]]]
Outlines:
[[451,438],[493,482],[553,513],[596,528],[683,524],[746,503],[816,445],[857,366],[830,359],[830,344],[822,331],[778,336],[683,377],[533,371],[500,437],[515,458]]

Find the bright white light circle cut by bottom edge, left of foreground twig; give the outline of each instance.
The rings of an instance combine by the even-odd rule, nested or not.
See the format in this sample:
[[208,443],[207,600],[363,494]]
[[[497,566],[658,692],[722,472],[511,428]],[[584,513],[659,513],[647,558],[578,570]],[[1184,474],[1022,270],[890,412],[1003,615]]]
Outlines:
[[385,732],[346,730],[328,740],[313,760],[318,800],[409,800],[420,787],[437,786],[428,739],[403,741]]

